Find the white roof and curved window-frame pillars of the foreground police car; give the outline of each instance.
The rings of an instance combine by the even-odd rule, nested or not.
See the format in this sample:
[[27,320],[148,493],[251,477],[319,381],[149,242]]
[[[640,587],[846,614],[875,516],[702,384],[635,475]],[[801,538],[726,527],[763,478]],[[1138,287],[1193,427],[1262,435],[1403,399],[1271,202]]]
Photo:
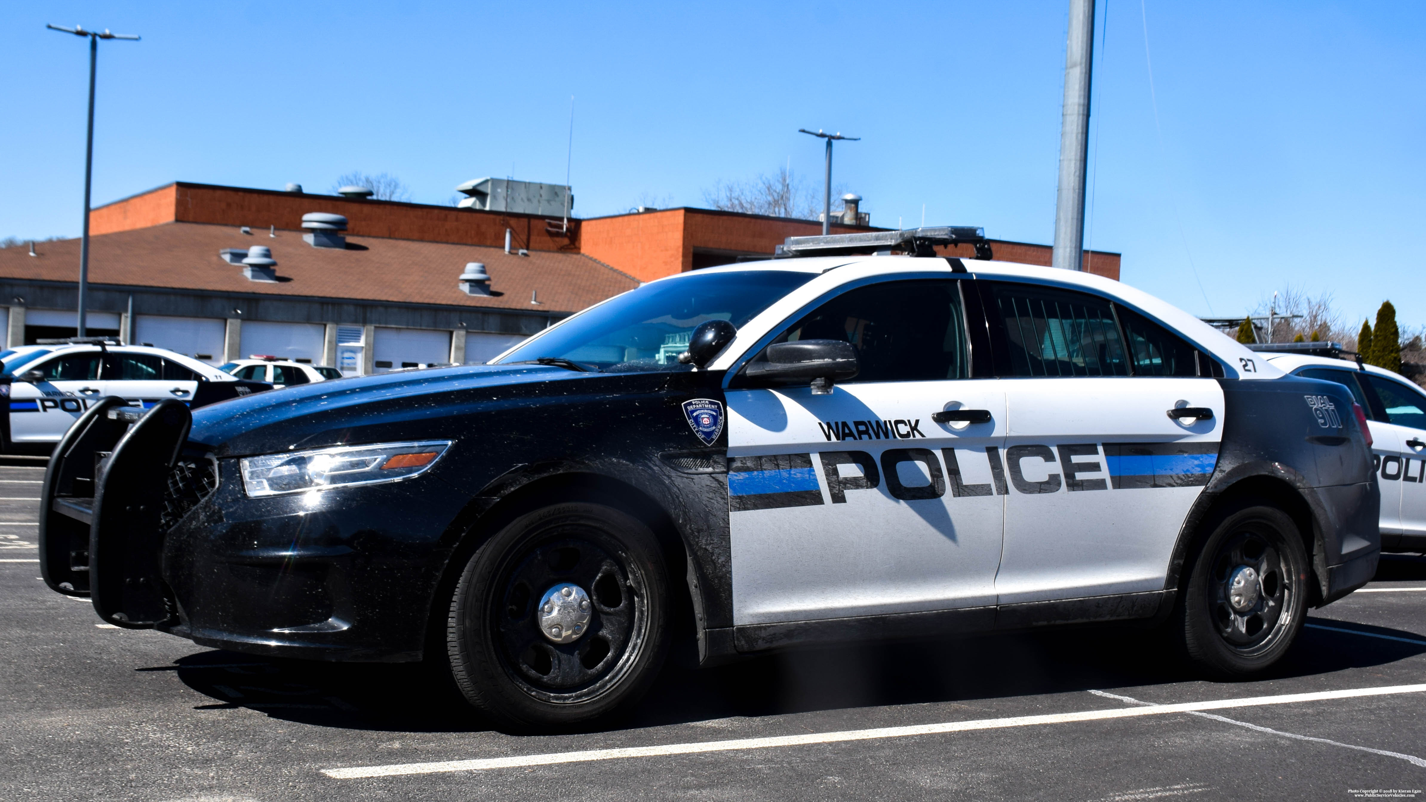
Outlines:
[[[1078,289],[1114,299],[1151,319],[1159,321],[1198,348],[1219,358],[1224,362],[1228,377],[1231,379],[1276,379],[1285,375],[1283,370],[1269,362],[1265,355],[1249,350],[1241,342],[1199,321],[1196,316],[1124,282],[1081,271],[1064,271],[1038,265],[1022,265],[1018,262],[963,259],[961,264],[971,276],[1002,281],[1030,281],[1038,285]],[[733,339],[730,348],[726,349],[712,365],[709,365],[709,369],[727,369],[733,362],[730,355],[740,353],[743,350],[743,348],[737,348],[740,345],[739,340],[746,343],[747,338],[761,338],[773,326],[797,312],[801,306],[838,285],[878,275],[907,274],[908,276],[925,276],[934,274],[957,274],[957,271],[954,271],[945,259],[917,256],[800,256],[769,259],[763,262],[742,262],[719,268],[704,268],[697,272],[737,272],[756,269],[796,271],[820,275],[793,292],[789,292],[780,301],[769,306],[763,313],[749,321],[747,325],[737,332],[737,336]],[[656,281],[679,281],[687,275],[690,274],[677,274]],[[1252,365],[1255,369],[1245,370],[1245,365]]]

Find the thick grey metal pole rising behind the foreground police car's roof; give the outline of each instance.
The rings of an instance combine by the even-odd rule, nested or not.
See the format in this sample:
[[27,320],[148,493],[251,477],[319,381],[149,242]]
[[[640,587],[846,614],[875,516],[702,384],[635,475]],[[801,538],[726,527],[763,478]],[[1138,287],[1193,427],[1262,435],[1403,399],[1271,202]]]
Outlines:
[[1060,127],[1060,194],[1055,199],[1054,266],[1084,269],[1084,175],[1089,161],[1089,70],[1094,66],[1094,1],[1070,0],[1065,105]]

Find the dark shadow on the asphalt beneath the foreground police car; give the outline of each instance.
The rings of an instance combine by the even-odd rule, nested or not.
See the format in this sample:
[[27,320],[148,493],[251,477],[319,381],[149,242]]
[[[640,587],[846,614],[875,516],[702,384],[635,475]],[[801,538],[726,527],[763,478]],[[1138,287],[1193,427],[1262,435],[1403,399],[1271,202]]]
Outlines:
[[[1253,679],[1383,665],[1426,652],[1413,632],[1312,620],[1292,651]],[[1338,630],[1352,630],[1350,632]],[[1387,640],[1355,632],[1386,635]],[[204,651],[175,665],[210,697],[197,711],[248,708],[318,727],[401,732],[486,731],[449,679],[422,664],[341,664]],[[645,699],[589,731],[663,727],[730,717],[1001,699],[1195,681],[1201,677],[1142,628],[1092,625],[954,640],[806,648],[694,670],[674,655]],[[1181,699],[1191,701],[1191,699]]]

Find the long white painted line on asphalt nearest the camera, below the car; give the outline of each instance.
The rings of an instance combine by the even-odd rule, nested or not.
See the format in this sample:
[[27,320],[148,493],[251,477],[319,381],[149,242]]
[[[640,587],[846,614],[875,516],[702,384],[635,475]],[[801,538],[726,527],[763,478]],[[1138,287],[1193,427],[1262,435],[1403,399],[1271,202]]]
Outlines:
[[841,732],[814,732],[809,735],[780,735],[773,738],[739,738],[736,741],[665,744],[662,746],[626,746],[622,749],[586,749],[580,752],[553,752],[546,755],[516,755],[511,758],[485,758],[485,759],[469,759],[469,761],[436,761],[429,764],[352,766],[342,769],[322,769],[322,774],[335,779],[356,779],[356,778],[371,778],[371,776],[401,776],[412,774],[442,774],[442,772],[456,772],[456,771],[548,766],[556,764],[613,761],[619,758],[657,758],[666,755],[699,755],[707,752],[767,749],[774,746],[841,744],[847,741],[876,741],[883,738],[907,738],[913,735],[944,735],[948,732],[1002,729],[1008,727],[1074,724],[1079,721],[1139,718],[1145,715],[1169,715],[1169,714],[1195,712],[1205,709],[1226,709],[1226,708],[1245,708],[1245,707],[1262,707],[1262,705],[1291,705],[1298,702],[1316,702],[1323,699],[1350,699],[1358,697],[1383,697],[1395,694],[1420,694],[1420,692],[1426,692],[1426,685],[1389,685],[1382,688],[1350,688],[1345,691],[1318,691],[1312,694],[1281,694],[1276,697],[1249,697],[1243,699],[1212,699],[1205,702],[1185,702],[1176,705],[1145,705],[1137,708],[1094,709],[1094,711],[1061,712],[1050,715],[981,718],[974,721],[951,721],[945,724],[918,724],[911,727],[846,729]]

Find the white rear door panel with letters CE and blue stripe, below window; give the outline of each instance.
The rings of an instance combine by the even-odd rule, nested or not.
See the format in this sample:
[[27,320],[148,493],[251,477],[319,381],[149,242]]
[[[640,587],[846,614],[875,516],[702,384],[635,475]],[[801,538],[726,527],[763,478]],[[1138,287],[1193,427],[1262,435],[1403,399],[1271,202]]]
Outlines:
[[[1010,409],[1010,494],[995,577],[1000,603],[1162,590],[1184,519],[1216,464],[1224,417],[1218,382],[1134,376],[1001,383]],[[1181,423],[1168,417],[1175,406],[1209,407],[1214,419]],[[1179,450],[1175,444],[1204,453],[1162,453]],[[1161,453],[1142,453],[1154,450]],[[1067,457],[1074,469],[1064,464]],[[1158,481],[1129,479],[1152,476],[1155,464]]]

